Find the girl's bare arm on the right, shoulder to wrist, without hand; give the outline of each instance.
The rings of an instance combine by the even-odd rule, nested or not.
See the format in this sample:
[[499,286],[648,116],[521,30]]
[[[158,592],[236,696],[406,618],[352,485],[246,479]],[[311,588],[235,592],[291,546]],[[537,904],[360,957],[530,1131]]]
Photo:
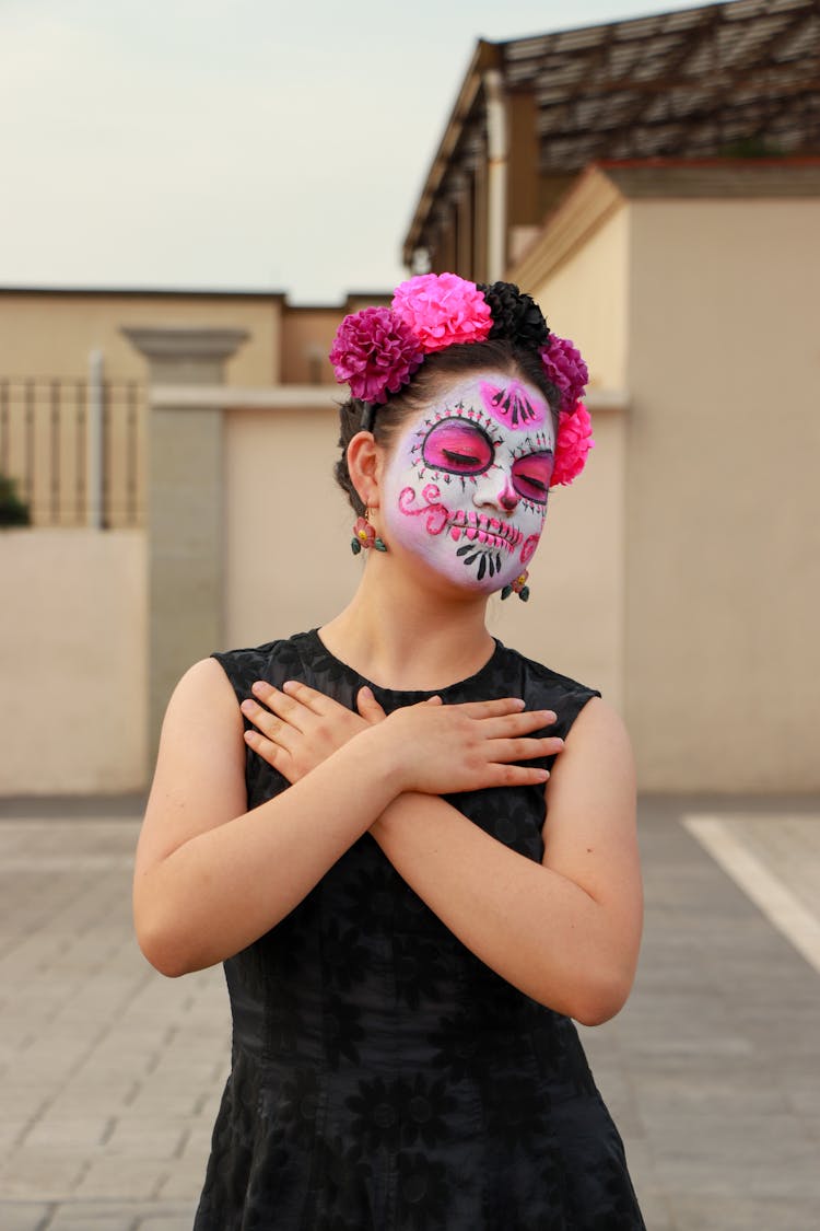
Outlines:
[[395,800],[371,833],[487,965],[593,1025],[626,1001],[642,923],[632,756],[620,719],[602,702],[590,702],[575,720],[547,805],[542,864],[430,796]]

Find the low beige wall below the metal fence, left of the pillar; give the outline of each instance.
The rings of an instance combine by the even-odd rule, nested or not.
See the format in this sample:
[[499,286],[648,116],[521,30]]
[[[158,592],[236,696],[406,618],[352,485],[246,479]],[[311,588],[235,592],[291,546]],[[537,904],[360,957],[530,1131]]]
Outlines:
[[145,539],[0,532],[0,795],[145,780]]

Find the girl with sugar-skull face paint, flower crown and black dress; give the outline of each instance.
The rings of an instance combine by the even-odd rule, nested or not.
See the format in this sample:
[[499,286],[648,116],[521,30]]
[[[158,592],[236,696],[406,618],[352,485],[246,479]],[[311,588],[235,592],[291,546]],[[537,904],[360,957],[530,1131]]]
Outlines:
[[231,996],[195,1229],[641,1229],[570,1020],[634,975],[628,741],[484,623],[583,467],[583,361],[455,275],[347,318],[331,358],[359,588],[183,677],[136,858],[149,960],[224,961]]

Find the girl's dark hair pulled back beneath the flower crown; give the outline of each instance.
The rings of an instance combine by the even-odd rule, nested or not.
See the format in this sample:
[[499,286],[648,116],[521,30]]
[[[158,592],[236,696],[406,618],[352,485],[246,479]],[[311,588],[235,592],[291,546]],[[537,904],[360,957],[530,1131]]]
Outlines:
[[[471,342],[465,346],[449,346],[444,351],[428,355],[422,367],[400,393],[393,394],[384,406],[376,409],[373,435],[377,444],[387,448],[397,430],[412,415],[418,414],[436,396],[443,387],[451,384],[456,377],[468,372],[505,372],[509,375],[522,377],[535,385],[550,404],[556,431],[558,428],[558,406],[561,391],[547,379],[537,351],[516,346],[508,339],[493,339],[487,342]],[[348,470],[348,444],[361,431],[361,414],[365,403],[359,398],[348,398],[339,406],[339,448],[342,455],[333,468],[336,481],[347,492],[354,512],[360,517],[364,503],[353,486]]]

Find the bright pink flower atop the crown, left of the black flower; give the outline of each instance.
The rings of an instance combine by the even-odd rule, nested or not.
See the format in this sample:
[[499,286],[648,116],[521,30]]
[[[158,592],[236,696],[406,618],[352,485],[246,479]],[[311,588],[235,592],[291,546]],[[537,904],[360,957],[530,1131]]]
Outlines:
[[483,342],[493,324],[478,287],[456,273],[420,273],[402,282],[392,307],[428,355],[457,342]]

